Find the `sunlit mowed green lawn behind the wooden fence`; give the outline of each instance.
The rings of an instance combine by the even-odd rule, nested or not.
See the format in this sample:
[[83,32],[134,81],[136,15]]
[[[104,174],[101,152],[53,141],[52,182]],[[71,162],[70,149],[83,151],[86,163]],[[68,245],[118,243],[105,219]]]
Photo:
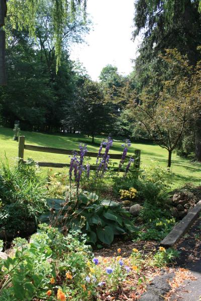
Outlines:
[[[91,137],[81,134],[44,134],[37,132],[21,131],[21,135],[25,136],[25,143],[49,146],[56,148],[65,148],[78,150],[80,142],[87,144],[89,152],[97,152],[100,142],[104,136],[96,136],[95,143],[91,143]],[[114,144],[111,149],[111,153],[122,153],[122,141],[114,139]],[[129,148],[129,154],[133,154],[135,149],[141,149],[141,163],[143,166],[160,165],[162,167],[167,166],[167,151],[158,145],[148,143],[133,142]],[[10,164],[13,164],[18,156],[18,142],[13,141],[13,130],[10,128],[0,127],[0,158],[5,160],[5,154],[9,159]],[[42,152],[33,152],[31,150],[25,150],[25,160],[32,158],[34,161],[40,162],[55,162],[55,163],[69,163],[70,158],[66,155],[50,154]],[[47,173],[47,168],[42,168],[43,173]],[[54,169],[54,171],[66,171],[66,169]],[[176,154],[172,156],[172,188],[183,186],[185,183],[192,183],[193,185],[199,185],[201,183],[201,164],[191,163],[187,159],[182,159]]]

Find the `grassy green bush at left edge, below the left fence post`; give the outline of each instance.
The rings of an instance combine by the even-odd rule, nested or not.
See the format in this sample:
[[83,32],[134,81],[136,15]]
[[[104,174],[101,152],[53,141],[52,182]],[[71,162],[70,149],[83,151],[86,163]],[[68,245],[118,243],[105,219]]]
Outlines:
[[25,231],[28,222],[36,224],[46,208],[44,180],[32,160],[10,167],[8,160],[0,169],[0,229]]

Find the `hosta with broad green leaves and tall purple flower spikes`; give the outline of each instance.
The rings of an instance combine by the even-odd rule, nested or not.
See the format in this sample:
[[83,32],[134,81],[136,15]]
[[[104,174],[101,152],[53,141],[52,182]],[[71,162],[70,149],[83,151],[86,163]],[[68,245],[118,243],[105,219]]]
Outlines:
[[[99,191],[109,168],[109,151],[112,145],[111,137],[100,143],[96,158],[95,177],[91,180],[90,185],[91,192],[81,191],[82,177],[85,176],[90,181],[90,166],[88,163],[84,165],[87,145],[79,145],[79,154],[73,152],[70,160],[70,185],[66,189],[65,198],[48,199],[47,204],[50,211],[41,216],[41,222],[48,222],[55,227],[61,227],[64,232],[68,229],[81,229],[83,233],[88,235],[88,241],[92,244],[96,242],[111,244],[114,235],[135,233],[136,229],[130,221],[130,213],[121,208],[121,204],[99,198]],[[125,163],[130,145],[129,140],[123,144],[124,149],[119,164],[119,172]],[[105,152],[102,155],[104,146]],[[132,161],[133,159],[130,158],[124,177],[127,175]],[[132,197],[134,193],[135,190],[132,190]]]

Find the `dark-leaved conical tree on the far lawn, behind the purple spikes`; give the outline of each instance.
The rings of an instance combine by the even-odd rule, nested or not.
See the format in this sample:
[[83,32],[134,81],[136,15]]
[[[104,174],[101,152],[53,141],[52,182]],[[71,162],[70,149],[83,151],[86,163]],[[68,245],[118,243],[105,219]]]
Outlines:
[[[80,80],[80,79],[79,79]],[[83,78],[80,87],[66,107],[66,118],[63,123],[67,130],[94,135],[109,133],[113,116],[104,101],[104,95],[97,82]]]

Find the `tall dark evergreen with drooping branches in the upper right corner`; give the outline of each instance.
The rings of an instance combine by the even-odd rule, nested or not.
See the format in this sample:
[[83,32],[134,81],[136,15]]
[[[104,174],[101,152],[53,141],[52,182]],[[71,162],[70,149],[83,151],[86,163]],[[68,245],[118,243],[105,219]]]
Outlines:
[[[199,0],[137,0],[134,18],[134,39],[141,34],[142,44],[136,59],[136,74],[140,90],[152,84],[155,97],[162,81],[172,77],[160,54],[165,49],[178,49],[192,66],[200,60],[197,47],[201,45],[201,3]],[[201,161],[201,119],[194,123],[195,152]]]

